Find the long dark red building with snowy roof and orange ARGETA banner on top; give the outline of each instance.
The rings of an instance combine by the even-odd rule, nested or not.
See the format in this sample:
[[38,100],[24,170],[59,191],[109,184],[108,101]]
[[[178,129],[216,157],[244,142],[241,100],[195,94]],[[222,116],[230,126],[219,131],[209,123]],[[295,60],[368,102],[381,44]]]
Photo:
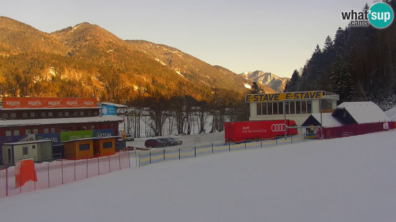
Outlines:
[[122,118],[100,116],[96,98],[4,97],[0,137],[114,129]]

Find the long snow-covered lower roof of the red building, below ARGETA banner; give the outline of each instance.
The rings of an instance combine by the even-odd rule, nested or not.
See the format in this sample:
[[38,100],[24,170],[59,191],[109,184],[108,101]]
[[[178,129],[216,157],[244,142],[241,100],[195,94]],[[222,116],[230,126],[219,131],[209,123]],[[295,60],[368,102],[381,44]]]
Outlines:
[[20,126],[20,125],[43,125],[43,124],[62,124],[62,123],[77,123],[77,122],[122,122],[122,117],[115,115],[106,115],[98,117],[73,117],[73,118],[53,118],[53,119],[17,119],[4,120],[0,119],[0,127],[6,126]]

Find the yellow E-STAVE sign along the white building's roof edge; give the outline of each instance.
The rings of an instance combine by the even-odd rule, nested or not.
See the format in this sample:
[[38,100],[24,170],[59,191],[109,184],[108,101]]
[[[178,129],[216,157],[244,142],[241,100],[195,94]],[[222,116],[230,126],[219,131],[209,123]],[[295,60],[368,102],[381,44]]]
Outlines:
[[245,95],[245,102],[275,102],[282,100],[316,99],[322,98],[322,96],[322,91],[247,94]]

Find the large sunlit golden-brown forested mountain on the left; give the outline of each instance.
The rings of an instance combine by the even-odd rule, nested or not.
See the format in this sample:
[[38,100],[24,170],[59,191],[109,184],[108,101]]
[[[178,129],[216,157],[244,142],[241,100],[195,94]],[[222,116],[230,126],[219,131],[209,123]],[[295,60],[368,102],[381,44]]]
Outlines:
[[184,92],[198,100],[213,88],[245,93],[250,84],[220,66],[148,41],[124,41],[93,24],[45,33],[0,17],[0,82],[8,96],[98,96]]

